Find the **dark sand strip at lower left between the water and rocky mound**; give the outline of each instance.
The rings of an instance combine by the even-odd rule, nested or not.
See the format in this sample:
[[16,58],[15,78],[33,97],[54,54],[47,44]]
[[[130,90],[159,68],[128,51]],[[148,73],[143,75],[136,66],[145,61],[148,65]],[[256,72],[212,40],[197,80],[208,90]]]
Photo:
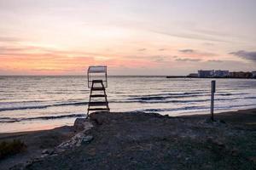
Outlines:
[[36,132],[2,133],[0,134],[0,142],[19,139],[26,144],[26,150],[15,156],[0,160],[0,169],[9,169],[9,167],[14,167],[16,164],[40,157],[43,150],[53,148],[73,135],[73,127],[57,127],[52,130]]

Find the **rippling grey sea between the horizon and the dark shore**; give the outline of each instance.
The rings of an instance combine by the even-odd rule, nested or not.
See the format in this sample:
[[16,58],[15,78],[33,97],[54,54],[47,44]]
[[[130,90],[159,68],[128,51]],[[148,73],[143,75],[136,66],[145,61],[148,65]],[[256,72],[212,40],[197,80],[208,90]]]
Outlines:
[[[209,114],[211,81],[110,76],[110,111]],[[86,116],[90,88],[83,76],[0,77],[0,94],[0,133],[14,133],[73,125]],[[216,79],[215,113],[255,107],[256,79]]]

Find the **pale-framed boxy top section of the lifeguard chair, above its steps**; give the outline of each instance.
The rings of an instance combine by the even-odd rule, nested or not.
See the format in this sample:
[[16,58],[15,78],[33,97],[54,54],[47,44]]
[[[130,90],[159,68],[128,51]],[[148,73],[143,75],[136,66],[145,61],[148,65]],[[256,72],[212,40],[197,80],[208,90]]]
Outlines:
[[102,81],[104,88],[108,88],[107,66],[90,66],[87,71],[88,88],[91,88],[92,82]]

